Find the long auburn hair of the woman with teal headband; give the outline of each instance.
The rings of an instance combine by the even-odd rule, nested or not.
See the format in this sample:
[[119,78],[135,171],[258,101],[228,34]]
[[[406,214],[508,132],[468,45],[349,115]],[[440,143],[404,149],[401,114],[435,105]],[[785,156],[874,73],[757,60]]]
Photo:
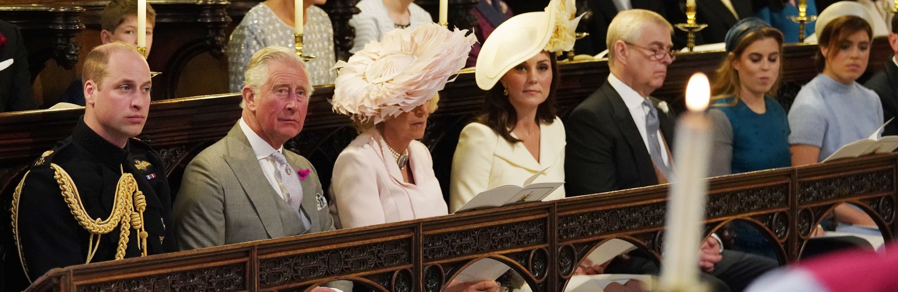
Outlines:
[[[718,70],[714,75],[714,82],[711,83],[711,95],[715,96],[715,99],[726,98],[729,95],[734,95],[735,99],[733,102],[729,102],[730,105],[735,105],[736,102],[739,102],[739,72],[735,70],[733,66],[733,62],[742,58],[742,54],[745,52],[745,49],[748,46],[751,46],[755,41],[764,40],[771,38],[773,40],[777,40],[779,43],[779,59],[782,60],[782,50],[783,50],[783,33],[777,29],[772,27],[765,27],[758,31],[753,31],[746,35],[742,40],[739,40],[739,43],[736,44],[735,49],[733,49],[729,54],[726,54],[724,57],[724,61],[718,67]],[[781,79],[783,73],[782,62],[779,63],[779,75],[777,80],[773,81],[773,87],[770,87],[770,92],[767,94],[770,96],[776,96],[777,90],[779,89],[779,80]]]

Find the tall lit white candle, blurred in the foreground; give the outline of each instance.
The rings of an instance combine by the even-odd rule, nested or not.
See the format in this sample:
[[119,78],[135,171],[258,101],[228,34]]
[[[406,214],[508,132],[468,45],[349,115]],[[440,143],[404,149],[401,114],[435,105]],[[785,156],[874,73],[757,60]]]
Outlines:
[[711,125],[705,110],[710,99],[708,76],[696,73],[686,86],[686,106],[676,128],[674,167],[678,181],[667,198],[661,286],[692,291],[699,284],[699,248],[703,238]]

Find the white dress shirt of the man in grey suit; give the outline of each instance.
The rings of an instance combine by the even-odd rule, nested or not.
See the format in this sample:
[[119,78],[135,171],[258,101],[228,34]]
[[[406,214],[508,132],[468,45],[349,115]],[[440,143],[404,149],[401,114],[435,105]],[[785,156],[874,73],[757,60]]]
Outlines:
[[[286,201],[286,199],[290,198],[286,187],[284,187],[284,183],[281,182],[280,172],[277,171],[277,161],[270,156],[275,152],[284,153],[284,146],[280,146],[280,148],[275,149],[268,142],[259,137],[259,134],[256,134],[255,131],[250,128],[250,125],[247,125],[243,118],[237,121],[240,124],[240,129],[243,130],[243,135],[246,135],[246,139],[250,140],[250,146],[252,147],[252,152],[256,154],[256,159],[259,160],[259,166],[262,167],[262,173],[265,174],[265,179],[269,181],[271,184],[271,188],[277,191],[277,195],[281,196],[282,199]],[[300,218],[303,219],[303,225],[306,229],[312,226],[312,222],[309,221],[309,218],[305,216],[302,210],[300,211]]]

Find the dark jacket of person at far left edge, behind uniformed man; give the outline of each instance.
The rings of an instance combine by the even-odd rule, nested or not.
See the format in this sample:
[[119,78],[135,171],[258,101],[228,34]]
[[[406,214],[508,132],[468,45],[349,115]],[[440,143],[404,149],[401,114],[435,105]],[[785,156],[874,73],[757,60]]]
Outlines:
[[9,22],[0,21],[0,34],[6,39],[0,45],[0,62],[13,59],[13,65],[0,70],[0,112],[35,110],[31,94],[31,72],[22,32]]

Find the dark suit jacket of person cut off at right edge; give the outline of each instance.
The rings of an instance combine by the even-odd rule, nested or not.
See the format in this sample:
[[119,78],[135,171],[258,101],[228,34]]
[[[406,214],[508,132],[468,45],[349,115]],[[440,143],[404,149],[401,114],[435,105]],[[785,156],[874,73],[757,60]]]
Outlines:
[[[892,58],[885,61],[883,70],[870,77],[864,85],[875,91],[883,102],[883,120],[894,118],[898,113],[898,66]],[[885,126],[883,136],[889,135],[898,135],[898,121],[893,120]]]

